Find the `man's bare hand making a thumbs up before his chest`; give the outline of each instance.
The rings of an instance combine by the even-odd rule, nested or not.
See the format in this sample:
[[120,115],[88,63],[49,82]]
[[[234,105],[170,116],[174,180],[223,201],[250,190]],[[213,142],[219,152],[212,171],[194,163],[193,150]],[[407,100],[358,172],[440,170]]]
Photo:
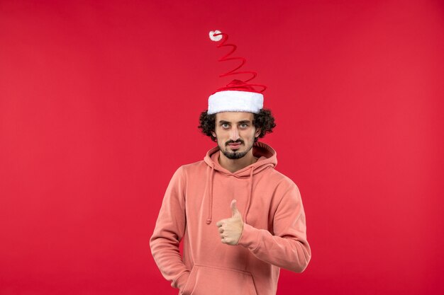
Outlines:
[[218,227],[221,241],[228,245],[237,245],[243,231],[243,220],[238,207],[236,207],[236,200],[231,201],[231,218],[222,219],[216,223]]

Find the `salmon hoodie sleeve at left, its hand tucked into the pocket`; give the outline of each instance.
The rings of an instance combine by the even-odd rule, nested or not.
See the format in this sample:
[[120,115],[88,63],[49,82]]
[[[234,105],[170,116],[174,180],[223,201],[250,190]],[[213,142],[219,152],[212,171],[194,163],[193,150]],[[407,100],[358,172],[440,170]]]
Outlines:
[[174,288],[183,289],[189,270],[179,252],[186,226],[184,171],[176,170],[163,197],[154,232],[150,238],[152,257],[163,277]]

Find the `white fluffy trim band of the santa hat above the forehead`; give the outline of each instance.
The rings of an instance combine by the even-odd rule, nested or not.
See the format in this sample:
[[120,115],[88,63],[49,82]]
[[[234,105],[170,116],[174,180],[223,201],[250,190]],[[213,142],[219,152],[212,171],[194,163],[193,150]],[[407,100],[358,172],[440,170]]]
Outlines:
[[264,105],[262,93],[227,90],[218,91],[208,98],[208,114],[216,112],[258,113]]

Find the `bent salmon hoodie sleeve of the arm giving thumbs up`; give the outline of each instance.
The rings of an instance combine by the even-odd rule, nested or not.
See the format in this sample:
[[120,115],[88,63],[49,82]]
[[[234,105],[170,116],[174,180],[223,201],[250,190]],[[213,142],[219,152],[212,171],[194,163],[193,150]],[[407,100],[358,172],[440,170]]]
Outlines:
[[[294,183],[280,192],[282,199],[273,218],[274,235],[244,224],[238,245],[262,261],[293,272],[303,272],[311,259],[301,195]],[[279,193],[279,189],[277,190]]]

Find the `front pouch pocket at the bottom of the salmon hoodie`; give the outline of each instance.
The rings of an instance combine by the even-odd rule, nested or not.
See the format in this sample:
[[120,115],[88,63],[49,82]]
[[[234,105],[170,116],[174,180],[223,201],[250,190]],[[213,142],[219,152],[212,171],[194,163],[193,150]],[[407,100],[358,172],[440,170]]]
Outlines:
[[182,295],[257,295],[250,272],[194,265]]

